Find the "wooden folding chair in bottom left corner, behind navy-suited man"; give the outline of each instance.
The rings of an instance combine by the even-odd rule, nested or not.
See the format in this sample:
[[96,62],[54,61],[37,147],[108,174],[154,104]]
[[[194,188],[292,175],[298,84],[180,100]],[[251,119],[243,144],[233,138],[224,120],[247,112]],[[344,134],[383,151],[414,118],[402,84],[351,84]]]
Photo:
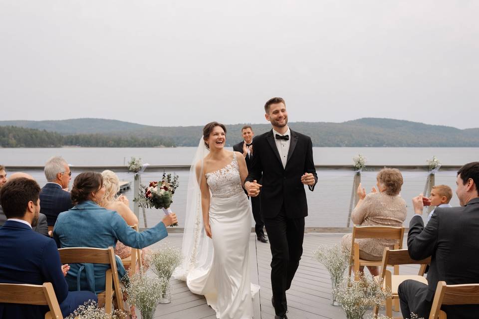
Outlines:
[[38,305],[50,308],[45,319],[63,319],[51,283],[43,285],[0,284],[0,303]]

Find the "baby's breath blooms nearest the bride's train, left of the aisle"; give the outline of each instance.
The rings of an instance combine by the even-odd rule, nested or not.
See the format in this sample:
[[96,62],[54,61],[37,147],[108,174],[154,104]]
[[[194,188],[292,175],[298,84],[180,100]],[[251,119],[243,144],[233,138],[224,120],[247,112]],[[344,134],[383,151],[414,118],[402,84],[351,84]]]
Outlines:
[[170,279],[176,267],[182,262],[181,251],[176,247],[161,246],[147,256],[148,264],[160,278]]

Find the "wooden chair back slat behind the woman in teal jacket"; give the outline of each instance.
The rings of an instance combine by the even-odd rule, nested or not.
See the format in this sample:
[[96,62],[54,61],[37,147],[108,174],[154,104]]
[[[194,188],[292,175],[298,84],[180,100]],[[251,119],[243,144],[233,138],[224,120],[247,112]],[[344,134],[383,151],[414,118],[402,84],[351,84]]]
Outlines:
[[110,264],[109,248],[60,248],[60,260],[62,264],[91,263]]

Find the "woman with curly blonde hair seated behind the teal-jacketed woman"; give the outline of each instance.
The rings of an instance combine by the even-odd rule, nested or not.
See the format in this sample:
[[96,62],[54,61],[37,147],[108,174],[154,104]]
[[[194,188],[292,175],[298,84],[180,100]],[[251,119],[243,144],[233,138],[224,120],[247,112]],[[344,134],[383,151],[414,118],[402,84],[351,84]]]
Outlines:
[[[103,185],[105,186],[105,195],[100,200],[100,206],[109,210],[114,210],[126,221],[130,226],[138,224],[138,218],[135,213],[128,207],[129,201],[125,196],[117,197],[117,193],[120,191],[120,181],[118,176],[111,170],[102,171]],[[131,247],[125,246],[122,242],[117,242],[115,247],[115,255],[118,255],[121,259],[131,256]],[[143,260],[144,254],[142,254]],[[128,269],[128,268],[126,268]]]

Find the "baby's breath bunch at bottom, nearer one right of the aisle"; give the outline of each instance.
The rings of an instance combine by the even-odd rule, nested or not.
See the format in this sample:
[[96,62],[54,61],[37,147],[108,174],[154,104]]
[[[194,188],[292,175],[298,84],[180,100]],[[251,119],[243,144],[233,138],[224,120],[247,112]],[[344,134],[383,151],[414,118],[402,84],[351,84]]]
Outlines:
[[369,308],[391,298],[391,291],[383,290],[380,282],[363,274],[358,281],[348,279],[338,285],[336,297],[347,319],[362,319]]

